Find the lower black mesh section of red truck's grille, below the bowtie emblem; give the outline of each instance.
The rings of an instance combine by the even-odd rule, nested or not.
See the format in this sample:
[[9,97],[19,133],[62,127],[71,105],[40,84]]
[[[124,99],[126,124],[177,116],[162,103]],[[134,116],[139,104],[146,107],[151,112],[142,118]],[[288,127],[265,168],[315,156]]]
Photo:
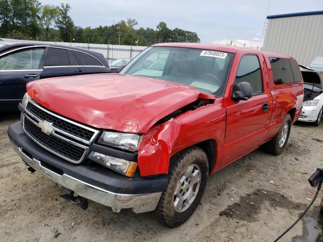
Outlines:
[[79,161],[86,150],[53,135],[44,134],[39,127],[24,118],[25,132],[42,146],[73,161]]

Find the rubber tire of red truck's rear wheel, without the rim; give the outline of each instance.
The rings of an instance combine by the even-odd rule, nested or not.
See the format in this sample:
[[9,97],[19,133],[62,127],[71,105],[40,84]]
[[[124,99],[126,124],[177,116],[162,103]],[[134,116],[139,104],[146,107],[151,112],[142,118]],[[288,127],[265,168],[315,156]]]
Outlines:
[[[282,131],[284,129],[285,124],[288,124],[287,138],[285,140],[284,145],[282,147],[280,147],[279,142],[281,140],[281,135],[282,135]],[[288,138],[289,138],[289,134],[291,132],[291,127],[292,127],[292,118],[291,118],[291,115],[287,113],[286,116],[285,116],[285,118],[284,118],[284,120],[283,120],[282,127],[279,129],[279,131],[276,134],[276,136],[272,140],[270,140],[267,143],[265,143],[263,145],[263,148],[268,153],[271,153],[273,155],[279,155],[279,154],[281,154],[285,150],[285,148],[286,148],[286,145],[287,145],[287,142],[288,142]]]

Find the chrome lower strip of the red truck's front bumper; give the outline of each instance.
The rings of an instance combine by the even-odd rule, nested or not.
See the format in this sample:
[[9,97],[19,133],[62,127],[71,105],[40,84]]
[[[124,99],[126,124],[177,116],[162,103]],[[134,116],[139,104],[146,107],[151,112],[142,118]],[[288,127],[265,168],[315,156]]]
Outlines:
[[131,208],[135,213],[143,213],[155,210],[161,192],[150,194],[118,194],[103,190],[82,180],[76,179],[68,174],[58,174],[42,166],[40,161],[27,156],[22,148],[13,144],[14,150],[19,156],[32,168],[55,181],[57,184],[74,191],[77,195],[92,200],[94,202],[111,207],[114,212],[120,212],[121,209]]

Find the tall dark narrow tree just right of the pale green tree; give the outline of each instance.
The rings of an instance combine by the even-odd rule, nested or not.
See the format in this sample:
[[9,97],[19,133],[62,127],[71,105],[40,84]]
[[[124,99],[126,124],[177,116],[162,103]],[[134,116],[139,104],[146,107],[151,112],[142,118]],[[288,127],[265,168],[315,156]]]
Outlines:
[[59,10],[60,13],[56,21],[56,27],[60,30],[61,39],[68,41],[75,30],[74,22],[69,15],[71,6],[69,4],[61,4]]

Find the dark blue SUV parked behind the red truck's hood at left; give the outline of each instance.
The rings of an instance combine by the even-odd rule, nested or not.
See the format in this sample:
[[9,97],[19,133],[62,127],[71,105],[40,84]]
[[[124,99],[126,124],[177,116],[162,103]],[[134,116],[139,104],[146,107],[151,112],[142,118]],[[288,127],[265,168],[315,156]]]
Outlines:
[[0,112],[18,111],[30,81],[111,72],[103,55],[89,50],[42,43],[4,44],[0,47]]

